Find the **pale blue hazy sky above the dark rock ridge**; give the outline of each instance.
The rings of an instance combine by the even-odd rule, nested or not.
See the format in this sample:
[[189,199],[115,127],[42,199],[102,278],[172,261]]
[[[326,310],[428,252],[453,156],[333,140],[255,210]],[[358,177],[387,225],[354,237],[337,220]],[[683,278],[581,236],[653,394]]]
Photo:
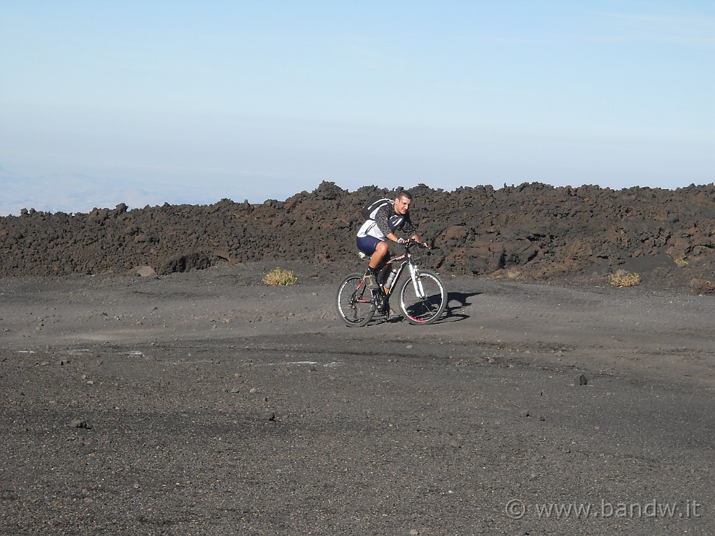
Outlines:
[[715,178],[715,2],[0,5],[0,215]]

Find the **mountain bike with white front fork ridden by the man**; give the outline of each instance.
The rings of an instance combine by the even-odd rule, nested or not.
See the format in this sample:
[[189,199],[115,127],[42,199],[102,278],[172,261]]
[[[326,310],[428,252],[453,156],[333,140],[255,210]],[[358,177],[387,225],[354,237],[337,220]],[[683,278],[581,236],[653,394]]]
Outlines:
[[[422,269],[415,262],[413,247],[428,247],[421,242],[403,243],[405,253],[388,259],[378,268],[378,289],[368,289],[364,274],[350,274],[337,289],[337,312],[351,327],[368,324],[375,314],[390,317],[389,299],[395,289],[400,298],[400,312],[410,324],[432,324],[447,307],[447,292],[435,272]],[[369,259],[365,254],[363,259]],[[407,276],[398,284],[407,268]],[[385,289],[385,287],[388,287]]]

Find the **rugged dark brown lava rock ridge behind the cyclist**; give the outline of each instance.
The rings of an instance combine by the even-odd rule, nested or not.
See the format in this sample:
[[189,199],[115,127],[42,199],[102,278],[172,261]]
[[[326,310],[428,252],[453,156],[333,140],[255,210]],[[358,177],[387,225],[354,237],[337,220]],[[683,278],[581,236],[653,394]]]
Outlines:
[[[541,183],[452,192],[419,184],[411,215],[432,246],[422,264],[445,274],[548,281],[617,270],[691,284],[713,279],[715,185],[622,190]],[[159,275],[246,262],[355,264],[360,207],[395,190],[323,182],[285,202],[222,199],[89,214],[0,218],[0,277]]]

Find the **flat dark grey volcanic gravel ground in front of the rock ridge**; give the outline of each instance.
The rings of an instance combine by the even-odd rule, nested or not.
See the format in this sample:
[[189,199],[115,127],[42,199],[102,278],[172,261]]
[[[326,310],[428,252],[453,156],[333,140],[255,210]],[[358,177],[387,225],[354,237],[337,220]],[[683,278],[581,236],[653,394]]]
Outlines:
[[715,533],[715,297],[445,276],[355,329],[272,267],[0,280],[0,533]]

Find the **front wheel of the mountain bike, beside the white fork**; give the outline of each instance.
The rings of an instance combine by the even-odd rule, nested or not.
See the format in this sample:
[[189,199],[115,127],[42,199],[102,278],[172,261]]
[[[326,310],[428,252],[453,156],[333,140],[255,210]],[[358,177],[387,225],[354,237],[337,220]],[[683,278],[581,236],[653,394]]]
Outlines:
[[416,281],[408,277],[400,289],[400,309],[410,324],[431,324],[447,307],[447,292],[435,272],[420,270]]

